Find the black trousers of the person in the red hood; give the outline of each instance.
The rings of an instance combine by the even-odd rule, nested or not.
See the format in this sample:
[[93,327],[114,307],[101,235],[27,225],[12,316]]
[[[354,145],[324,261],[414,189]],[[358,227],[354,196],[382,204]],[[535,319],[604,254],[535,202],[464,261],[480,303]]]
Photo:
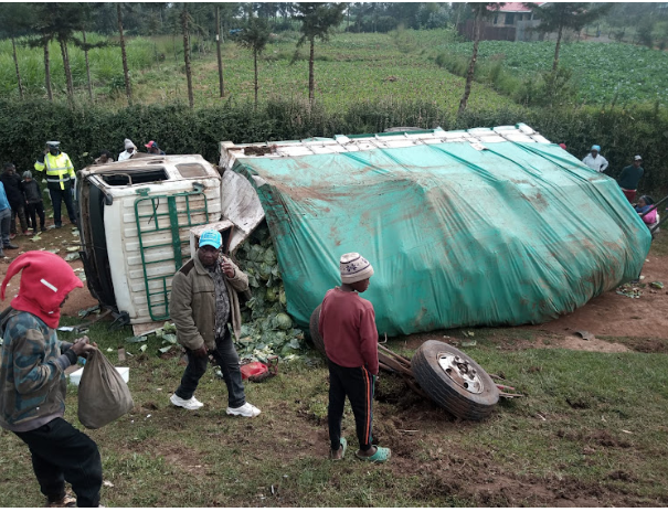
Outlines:
[[102,459],[93,439],[63,418],[14,434],[28,445],[40,489],[50,501],[65,494],[67,481],[76,494],[76,506],[99,504]]

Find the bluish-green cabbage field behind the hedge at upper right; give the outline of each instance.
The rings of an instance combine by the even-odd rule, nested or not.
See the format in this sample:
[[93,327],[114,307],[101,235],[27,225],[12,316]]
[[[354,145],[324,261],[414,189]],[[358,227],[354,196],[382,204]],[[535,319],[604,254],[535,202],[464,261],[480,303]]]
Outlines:
[[[470,55],[473,43],[445,43],[438,52]],[[520,78],[552,68],[554,42],[513,43],[483,41],[479,62],[500,61],[502,68]],[[668,53],[625,43],[564,43],[560,65],[573,72],[579,99],[605,105],[655,103],[668,105]]]

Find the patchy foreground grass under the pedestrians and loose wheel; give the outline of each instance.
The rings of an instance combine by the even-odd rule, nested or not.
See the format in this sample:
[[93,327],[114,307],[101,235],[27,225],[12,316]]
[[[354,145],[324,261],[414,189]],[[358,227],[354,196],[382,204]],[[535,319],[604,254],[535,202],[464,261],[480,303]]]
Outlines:
[[[130,366],[135,409],[86,430],[102,452],[106,506],[668,504],[665,342],[656,353],[594,353],[559,349],[540,331],[476,329],[477,344],[465,351],[526,396],[501,401],[483,423],[459,422],[382,373],[374,438],[393,456],[370,466],[353,457],[349,406],[343,433],[351,448],[342,462],[327,458],[327,370],[315,352],[247,384],[248,401],[263,410],[247,420],[224,414],[225,387],[212,370],[197,393],[202,409],[169,405],[183,370],[179,354],[159,358],[155,338],[142,352],[128,335],[104,323],[89,333],[115,364],[118,348],[131,354],[123,365]],[[430,337],[456,343],[460,332],[402,337],[389,346],[410,356],[418,338]],[[83,429],[76,399],[70,386],[66,418]],[[28,449],[4,430],[0,462],[0,506],[39,506]]]

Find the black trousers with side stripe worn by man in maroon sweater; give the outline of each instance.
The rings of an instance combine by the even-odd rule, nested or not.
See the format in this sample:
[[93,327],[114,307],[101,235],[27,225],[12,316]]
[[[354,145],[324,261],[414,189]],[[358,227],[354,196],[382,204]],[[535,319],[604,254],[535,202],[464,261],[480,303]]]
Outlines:
[[350,401],[354,425],[360,441],[360,450],[371,448],[373,438],[371,426],[373,423],[373,387],[375,376],[365,367],[343,367],[331,361],[329,365],[329,406],[327,408],[327,423],[329,426],[329,441],[332,450],[338,450],[341,438],[341,418],[346,397]]

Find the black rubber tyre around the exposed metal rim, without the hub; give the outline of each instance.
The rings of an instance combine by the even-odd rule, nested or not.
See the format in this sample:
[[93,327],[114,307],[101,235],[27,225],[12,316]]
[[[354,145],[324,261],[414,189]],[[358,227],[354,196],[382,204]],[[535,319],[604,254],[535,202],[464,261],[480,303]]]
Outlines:
[[[458,355],[476,371],[483,386],[480,393],[473,393],[454,382],[438,364],[438,354],[447,352]],[[439,406],[462,419],[484,419],[489,416],[499,401],[499,390],[473,359],[454,346],[436,340],[425,341],[411,360],[413,375],[420,386]]]

